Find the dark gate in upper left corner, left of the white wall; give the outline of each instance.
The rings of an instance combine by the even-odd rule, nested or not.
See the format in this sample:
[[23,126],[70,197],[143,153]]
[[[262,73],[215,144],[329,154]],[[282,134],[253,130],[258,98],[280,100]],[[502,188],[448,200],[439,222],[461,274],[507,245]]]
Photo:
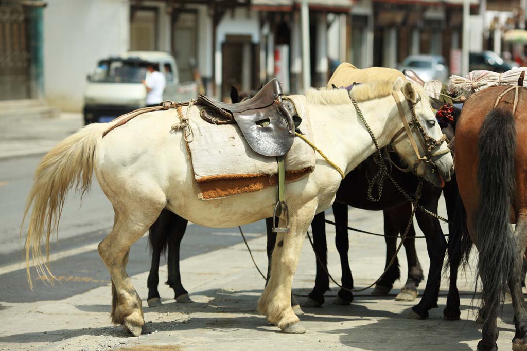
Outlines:
[[41,97],[42,7],[0,0],[0,100]]

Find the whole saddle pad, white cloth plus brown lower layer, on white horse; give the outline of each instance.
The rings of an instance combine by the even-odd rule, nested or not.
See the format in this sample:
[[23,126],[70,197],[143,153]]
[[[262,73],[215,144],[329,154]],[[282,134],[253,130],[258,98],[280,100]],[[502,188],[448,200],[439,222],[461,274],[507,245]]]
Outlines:
[[[299,129],[312,139],[311,123],[305,108],[305,97],[288,96],[302,119]],[[204,121],[196,106],[191,107],[189,124],[193,139],[187,143],[194,179],[203,200],[253,192],[277,184],[276,157],[254,152],[236,124],[214,125]],[[295,138],[286,154],[286,181],[292,182],[313,171],[315,151]]]

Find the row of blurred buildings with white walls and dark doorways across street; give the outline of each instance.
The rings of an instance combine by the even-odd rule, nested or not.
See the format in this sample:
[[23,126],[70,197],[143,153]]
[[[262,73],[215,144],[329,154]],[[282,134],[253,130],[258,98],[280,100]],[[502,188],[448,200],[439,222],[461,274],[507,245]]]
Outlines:
[[[0,0],[0,11],[6,2],[45,4]],[[41,28],[42,38],[32,42],[40,47],[40,61],[34,50],[36,64],[24,68],[31,88],[3,96],[41,96],[70,111],[82,108],[86,75],[97,61],[128,50],[171,53],[181,81],[200,81],[204,92],[228,100],[231,86],[249,91],[271,77],[277,77],[288,93],[303,92],[304,61],[311,85],[320,87],[345,61],[359,68],[396,68],[411,54],[440,54],[456,66],[450,62],[452,52],[462,45],[462,0],[307,0],[308,33],[301,30],[304,0],[46,3],[40,7],[40,22],[35,22],[40,24],[31,27]],[[511,7],[503,1],[471,1],[472,50],[504,51],[508,44],[501,37],[506,28],[518,27],[514,18],[521,16],[516,4],[520,0],[509,3]],[[309,44],[307,55],[302,53],[304,39]],[[6,59],[4,48],[5,44],[0,61]],[[4,91],[11,85],[2,85],[2,79],[15,79],[6,77],[0,76]]]

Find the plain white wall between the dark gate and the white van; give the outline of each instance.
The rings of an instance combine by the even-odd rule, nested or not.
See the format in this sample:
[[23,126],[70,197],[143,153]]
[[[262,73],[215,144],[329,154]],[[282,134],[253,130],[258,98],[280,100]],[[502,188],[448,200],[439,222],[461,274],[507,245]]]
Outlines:
[[44,9],[44,97],[63,111],[81,111],[86,75],[98,59],[126,51],[130,4],[125,0],[48,0]]

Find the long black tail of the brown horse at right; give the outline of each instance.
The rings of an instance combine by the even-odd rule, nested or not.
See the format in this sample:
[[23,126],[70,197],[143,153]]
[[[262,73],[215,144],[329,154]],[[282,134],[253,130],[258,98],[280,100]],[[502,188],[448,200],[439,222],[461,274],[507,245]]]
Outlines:
[[516,188],[516,128],[511,111],[494,108],[485,116],[477,152],[480,187],[475,218],[476,245],[480,251],[477,274],[483,283],[483,310],[488,319],[503,304],[509,277],[519,268],[518,248],[510,226]]

